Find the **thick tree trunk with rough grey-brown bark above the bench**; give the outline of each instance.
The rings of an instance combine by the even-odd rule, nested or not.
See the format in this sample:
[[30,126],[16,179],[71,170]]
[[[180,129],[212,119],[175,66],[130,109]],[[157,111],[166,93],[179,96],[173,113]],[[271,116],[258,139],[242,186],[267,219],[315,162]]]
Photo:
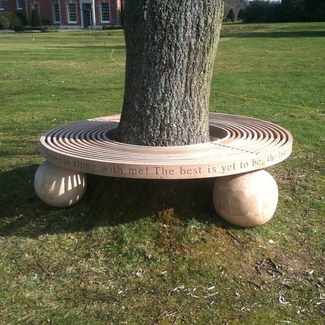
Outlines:
[[126,0],[125,94],[118,141],[209,141],[208,101],[224,0]]

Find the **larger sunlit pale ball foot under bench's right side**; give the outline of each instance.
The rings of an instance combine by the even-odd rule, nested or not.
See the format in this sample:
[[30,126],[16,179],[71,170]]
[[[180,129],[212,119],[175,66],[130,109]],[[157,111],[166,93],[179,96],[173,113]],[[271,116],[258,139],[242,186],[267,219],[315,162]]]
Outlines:
[[265,224],[278,204],[278,186],[264,170],[218,177],[213,188],[217,214],[230,224],[254,227]]

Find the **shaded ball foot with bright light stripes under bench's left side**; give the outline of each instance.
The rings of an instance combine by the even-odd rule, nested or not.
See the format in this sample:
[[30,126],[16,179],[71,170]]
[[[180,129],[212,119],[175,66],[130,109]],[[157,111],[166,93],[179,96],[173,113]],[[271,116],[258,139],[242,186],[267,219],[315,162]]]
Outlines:
[[64,169],[45,161],[34,177],[36,194],[46,204],[67,208],[80,201],[86,191],[86,176],[80,171]]

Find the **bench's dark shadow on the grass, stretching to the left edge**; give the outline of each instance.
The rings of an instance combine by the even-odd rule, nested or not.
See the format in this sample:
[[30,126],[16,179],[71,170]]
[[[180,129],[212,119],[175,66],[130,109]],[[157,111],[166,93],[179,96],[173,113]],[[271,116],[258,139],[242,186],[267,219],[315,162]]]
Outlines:
[[38,165],[0,173],[0,236],[35,238],[42,234],[86,232],[152,217],[163,224],[191,219],[218,228],[237,228],[213,209],[213,180],[132,180],[88,177],[82,202],[71,208],[51,208],[34,192]]

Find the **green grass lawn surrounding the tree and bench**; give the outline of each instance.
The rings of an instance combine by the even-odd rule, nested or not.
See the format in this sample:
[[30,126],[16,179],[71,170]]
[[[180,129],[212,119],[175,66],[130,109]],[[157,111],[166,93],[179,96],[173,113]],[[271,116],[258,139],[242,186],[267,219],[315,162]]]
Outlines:
[[294,138],[267,169],[276,213],[252,229],[217,217],[209,191],[159,210],[149,181],[108,180],[104,204],[40,202],[40,135],[121,112],[125,46],[119,30],[34,36],[0,34],[1,324],[324,323],[325,23],[224,26],[210,110]]

